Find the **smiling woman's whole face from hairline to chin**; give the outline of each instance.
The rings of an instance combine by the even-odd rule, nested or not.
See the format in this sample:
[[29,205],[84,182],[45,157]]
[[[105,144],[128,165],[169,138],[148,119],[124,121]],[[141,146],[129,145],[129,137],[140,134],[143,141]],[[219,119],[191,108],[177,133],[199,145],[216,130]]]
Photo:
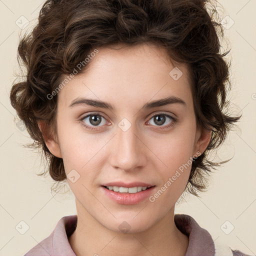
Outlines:
[[57,143],[47,146],[63,158],[77,214],[113,231],[144,231],[173,214],[206,146],[187,67],[166,56],[152,44],[98,48],[58,93]]

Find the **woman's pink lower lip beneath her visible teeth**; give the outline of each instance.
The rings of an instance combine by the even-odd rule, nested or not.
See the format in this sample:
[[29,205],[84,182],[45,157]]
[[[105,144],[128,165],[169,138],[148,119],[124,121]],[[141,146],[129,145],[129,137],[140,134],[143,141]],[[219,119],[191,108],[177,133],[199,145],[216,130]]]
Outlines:
[[140,192],[136,193],[120,193],[115,192],[113,190],[109,190],[104,186],[101,186],[103,192],[113,201],[120,203],[120,204],[137,204],[143,201],[145,198],[149,197],[150,193],[154,189],[155,186],[151,186],[146,190],[141,190]]

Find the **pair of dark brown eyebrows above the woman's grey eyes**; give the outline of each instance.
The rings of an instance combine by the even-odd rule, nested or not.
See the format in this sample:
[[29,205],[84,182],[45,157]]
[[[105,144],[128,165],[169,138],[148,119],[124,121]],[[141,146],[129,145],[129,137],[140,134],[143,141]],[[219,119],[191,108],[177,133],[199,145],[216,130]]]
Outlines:
[[[168,105],[168,104],[174,104],[174,103],[179,103],[179,104],[182,104],[182,105],[186,105],[185,101],[182,100],[181,98],[175,97],[175,96],[168,96],[168,97],[165,97],[165,98],[161,98],[161,99],[157,99],[157,100],[147,102],[142,106],[141,109],[146,110],[146,109],[149,109],[149,108]],[[111,104],[109,104],[105,101],[89,99],[89,98],[82,98],[82,97],[77,97],[74,100],[72,100],[69,107],[73,107],[73,106],[76,106],[76,105],[91,105],[91,106],[101,107],[101,108],[105,108],[105,109],[109,109],[109,110],[114,109],[114,107]]]

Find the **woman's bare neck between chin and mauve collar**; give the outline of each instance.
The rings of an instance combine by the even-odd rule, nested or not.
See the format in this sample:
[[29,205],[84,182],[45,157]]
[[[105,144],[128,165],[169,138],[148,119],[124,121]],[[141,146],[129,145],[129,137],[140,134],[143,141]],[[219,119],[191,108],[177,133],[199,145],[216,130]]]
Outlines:
[[174,223],[174,207],[153,226],[137,233],[112,231],[81,208],[77,205],[77,226],[68,237],[77,256],[185,255],[188,237]]

